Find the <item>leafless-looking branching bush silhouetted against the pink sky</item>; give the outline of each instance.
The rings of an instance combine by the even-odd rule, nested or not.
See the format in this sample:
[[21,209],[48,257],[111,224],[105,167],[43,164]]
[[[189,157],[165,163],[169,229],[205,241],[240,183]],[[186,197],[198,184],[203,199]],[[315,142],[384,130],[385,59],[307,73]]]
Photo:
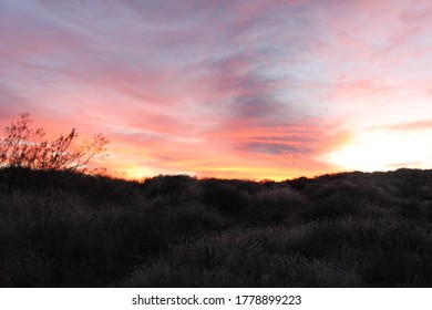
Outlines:
[[54,141],[45,138],[43,128],[32,128],[30,113],[4,128],[6,137],[0,138],[0,167],[25,167],[31,169],[56,169],[89,172],[89,163],[107,156],[109,141],[96,134],[76,146],[78,133],[73,128]]

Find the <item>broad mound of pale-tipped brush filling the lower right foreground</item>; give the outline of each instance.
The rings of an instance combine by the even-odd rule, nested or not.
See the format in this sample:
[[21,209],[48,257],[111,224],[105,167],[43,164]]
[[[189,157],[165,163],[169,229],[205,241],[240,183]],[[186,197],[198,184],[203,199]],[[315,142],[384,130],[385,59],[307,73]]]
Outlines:
[[237,229],[178,244],[120,286],[428,287],[431,241],[425,227],[395,219]]

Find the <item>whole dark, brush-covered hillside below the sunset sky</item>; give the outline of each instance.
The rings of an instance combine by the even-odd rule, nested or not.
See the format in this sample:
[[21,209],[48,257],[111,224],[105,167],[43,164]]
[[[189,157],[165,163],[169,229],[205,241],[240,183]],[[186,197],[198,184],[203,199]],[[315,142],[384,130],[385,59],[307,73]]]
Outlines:
[[133,183],[2,169],[0,287],[432,287],[432,170]]

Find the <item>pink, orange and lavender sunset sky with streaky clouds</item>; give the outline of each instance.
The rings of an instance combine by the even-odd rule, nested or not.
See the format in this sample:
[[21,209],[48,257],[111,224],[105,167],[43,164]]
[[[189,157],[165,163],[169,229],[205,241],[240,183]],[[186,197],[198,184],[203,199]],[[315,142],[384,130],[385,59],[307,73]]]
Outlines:
[[130,178],[432,168],[431,33],[428,0],[0,0],[0,126]]

